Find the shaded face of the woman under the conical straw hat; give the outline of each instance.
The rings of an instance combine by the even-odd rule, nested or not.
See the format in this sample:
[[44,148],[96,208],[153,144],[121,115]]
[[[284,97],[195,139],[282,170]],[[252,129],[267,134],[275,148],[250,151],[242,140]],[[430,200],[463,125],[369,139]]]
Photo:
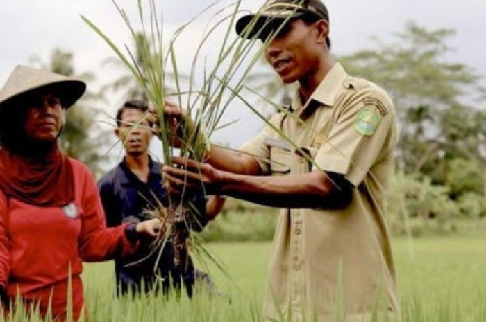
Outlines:
[[62,129],[63,114],[60,98],[43,93],[28,100],[24,130],[34,141],[56,141]]

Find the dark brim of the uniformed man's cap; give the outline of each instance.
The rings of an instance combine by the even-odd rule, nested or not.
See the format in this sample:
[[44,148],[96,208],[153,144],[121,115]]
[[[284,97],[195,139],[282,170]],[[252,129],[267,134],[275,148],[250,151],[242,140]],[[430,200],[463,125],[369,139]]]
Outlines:
[[278,30],[285,21],[301,17],[303,12],[295,11],[292,15],[246,15],[236,21],[235,29],[238,36],[244,39],[262,39]]

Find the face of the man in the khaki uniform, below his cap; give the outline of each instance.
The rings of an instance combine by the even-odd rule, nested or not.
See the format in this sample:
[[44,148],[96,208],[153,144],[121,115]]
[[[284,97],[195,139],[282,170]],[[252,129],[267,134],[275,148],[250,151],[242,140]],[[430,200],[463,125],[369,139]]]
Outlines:
[[301,19],[287,22],[278,35],[269,43],[265,58],[285,84],[308,76],[319,66],[322,55],[318,43],[318,29],[307,25]]

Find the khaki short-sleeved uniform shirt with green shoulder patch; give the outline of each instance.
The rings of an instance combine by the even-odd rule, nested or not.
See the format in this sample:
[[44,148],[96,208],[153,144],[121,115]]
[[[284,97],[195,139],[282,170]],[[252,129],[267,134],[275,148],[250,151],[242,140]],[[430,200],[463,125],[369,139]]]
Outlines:
[[369,313],[380,296],[399,312],[385,222],[398,139],[387,93],[335,64],[304,106],[296,95],[290,110],[271,124],[287,139],[267,125],[241,149],[258,157],[265,175],[324,170],[345,175],[355,188],[343,209],[280,211],[269,258],[267,319],[291,312],[292,321],[309,314],[326,321],[340,303],[350,321]]

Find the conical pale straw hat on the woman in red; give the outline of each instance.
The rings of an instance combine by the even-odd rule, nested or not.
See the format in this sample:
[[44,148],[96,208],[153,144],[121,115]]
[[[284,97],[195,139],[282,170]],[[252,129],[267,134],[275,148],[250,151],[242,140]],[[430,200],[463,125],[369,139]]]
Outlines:
[[0,111],[8,106],[15,107],[15,102],[29,93],[39,90],[49,90],[56,93],[66,109],[83,96],[85,82],[76,78],[68,78],[50,71],[33,69],[28,66],[17,66],[0,89]]

